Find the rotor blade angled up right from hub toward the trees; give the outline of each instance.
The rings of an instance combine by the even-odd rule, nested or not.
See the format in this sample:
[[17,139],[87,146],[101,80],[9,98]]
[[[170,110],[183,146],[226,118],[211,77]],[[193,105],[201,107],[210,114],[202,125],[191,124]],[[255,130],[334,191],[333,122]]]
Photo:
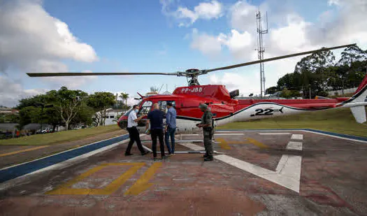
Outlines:
[[274,61],[274,60],[278,60],[278,59],[296,57],[298,55],[312,54],[313,52],[317,52],[317,51],[334,50],[334,49],[339,49],[339,48],[345,48],[345,47],[348,47],[350,45],[356,45],[356,43],[352,43],[352,44],[348,44],[348,45],[339,45],[339,46],[332,47],[332,48],[321,48],[319,50],[312,50],[312,51],[307,51],[307,52],[298,52],[298,53],[294,53],[294,54],[291,54],[291,55],[282,55],[282,56],[279,56],[279,57],[273,57],[273,58],[269,58],[269,59],[257,60],[257,61],[254,61],[254,62],[246,62],[246,63],[243,63],[243,64],[234,64],[234,65],[231,65],[231,66],[224,66],[224,67],[217,68],[217,69],[209,69],[209,70],[203,70],[203,71],[205,73],[208,73],[208,72],[212,72],[212,71],[235,69],[235,68],[238,68],[238,67],[241,67],[241,66],[247,66],[247,65],[251,65],[251,64],[259,64],[261,62],[270,62],[270,61]]

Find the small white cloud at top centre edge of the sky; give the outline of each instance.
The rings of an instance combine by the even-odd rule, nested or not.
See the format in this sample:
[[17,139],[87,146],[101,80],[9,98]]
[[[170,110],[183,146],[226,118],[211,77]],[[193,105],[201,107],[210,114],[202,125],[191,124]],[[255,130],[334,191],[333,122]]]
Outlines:
[[212,20],[222,17],[223,6],[218,1],[201,2],[194,10],[190,10],[185,6],[178,6],[177,10],[172,8],[178,4],[173,0],[160,0],[162,5],[162,13],[169,17],[174,17],[179,22],[180,27],[189,27],[196,20]]

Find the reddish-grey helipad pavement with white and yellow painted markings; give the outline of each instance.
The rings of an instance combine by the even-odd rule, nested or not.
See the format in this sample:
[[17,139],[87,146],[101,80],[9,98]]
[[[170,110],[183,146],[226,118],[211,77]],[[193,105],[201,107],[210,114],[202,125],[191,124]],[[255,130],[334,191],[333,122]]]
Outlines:
[[88,157],[38,163],[38,173],[3,169],[0,215],[367,215],[366,141],[217,131],[218,153],[204,162],[201,139],[182,136],[164,161],[135,144],[125,157],[128,140],[119,139]]

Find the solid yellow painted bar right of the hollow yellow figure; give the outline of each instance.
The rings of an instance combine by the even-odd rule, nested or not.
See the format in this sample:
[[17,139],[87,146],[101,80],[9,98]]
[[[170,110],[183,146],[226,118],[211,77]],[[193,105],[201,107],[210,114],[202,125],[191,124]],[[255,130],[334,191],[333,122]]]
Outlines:
[[154,173],[156,173],[158,168],[161,166],[162,166],[161,162],[154,163],[152,166],[150,166],[150,168],[148,168],[147,171],[145,171],[145,173],[141,175],[141,178],[139,178],[135,182],[135,184],[131,186],[127,190],[127,192],[125,192],[125,195],[138,195],[141,192],[148,189],[150,186],[152,186],[153,184],[149,183],[148,181],[150,180],[150,178],[152,178]]

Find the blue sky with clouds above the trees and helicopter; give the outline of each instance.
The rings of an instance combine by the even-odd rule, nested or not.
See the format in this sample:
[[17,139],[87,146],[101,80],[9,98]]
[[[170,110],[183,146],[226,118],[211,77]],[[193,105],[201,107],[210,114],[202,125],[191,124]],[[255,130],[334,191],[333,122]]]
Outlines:
[[[161,72],[257,60],[256,13],[265,20],[264,57],[357,43],[367,49],[365,0],[0,0],[0,105],[66,86],[94,92],[173,92],[186,78],[161,75],[30,78],[26,73]],[[265,24],[263,24],[264,26]],[[337,59],[340,50],[334,50]],[[265,63],[266,88],[301,57]],[[259,65],[215,71],[201,85],[259,94]]]

